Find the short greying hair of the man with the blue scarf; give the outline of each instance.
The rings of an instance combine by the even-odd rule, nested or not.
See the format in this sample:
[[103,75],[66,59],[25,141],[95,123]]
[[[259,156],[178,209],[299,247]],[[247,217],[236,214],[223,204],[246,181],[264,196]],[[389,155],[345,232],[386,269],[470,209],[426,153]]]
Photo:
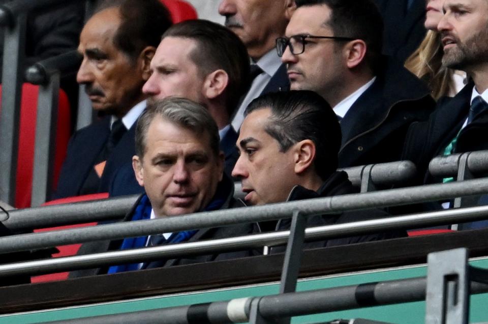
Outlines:
[[208,133],[210,148],[215,156],[219,155],[219,128],[214,118],[201,104],[190,99],[170,96],[162,100],[150,101],[137,121],[136,154],[142,160],[146,153],[146,137],[149,125],[156,117],[180,127],[190,129],[195,134]]

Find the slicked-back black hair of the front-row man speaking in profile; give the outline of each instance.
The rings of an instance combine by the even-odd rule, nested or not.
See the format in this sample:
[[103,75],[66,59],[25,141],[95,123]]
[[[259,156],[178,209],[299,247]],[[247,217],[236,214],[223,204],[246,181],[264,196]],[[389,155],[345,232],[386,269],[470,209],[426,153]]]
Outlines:
[[259,109],[270,109],[265,131],[275,138],[280,151],[310,139],[316,148],[315,171],[325,181],[337,169],[341,147],[341,127],[330,105],[310,90],[268,93],[254,99],[244,116]]

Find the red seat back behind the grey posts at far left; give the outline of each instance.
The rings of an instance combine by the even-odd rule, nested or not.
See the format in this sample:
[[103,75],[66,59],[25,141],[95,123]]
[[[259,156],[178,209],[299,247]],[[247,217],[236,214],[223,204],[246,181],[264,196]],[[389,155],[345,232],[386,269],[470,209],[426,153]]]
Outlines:
[[[14,204],[16,208],[26,208],[31,206],[38,93],[39,86],[29,83],[24,83],[22,85],[19,151],[17,157],[16,174],[17,181]],[[2,86],[0,85],[0,98],[1,97]],[[59,90],[53,184],[57,184],[59,171],[61,170],[61,166],[66,157],[66,150],[68,148],[68,141],[71,134],[70,118],[70,104],[68,101],[68,96],[63,90]]]

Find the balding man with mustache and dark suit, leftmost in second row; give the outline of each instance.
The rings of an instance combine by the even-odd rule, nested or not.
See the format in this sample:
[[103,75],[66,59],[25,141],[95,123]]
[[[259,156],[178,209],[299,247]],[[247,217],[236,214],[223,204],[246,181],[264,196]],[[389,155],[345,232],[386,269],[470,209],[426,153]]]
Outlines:
[[103,3],[86,22],[77,81],[101,119],[72,136],[54,198],[106,192],[114,172],[132,159],[134,125],[146,104],[141,89],[170,25],[158,0]]

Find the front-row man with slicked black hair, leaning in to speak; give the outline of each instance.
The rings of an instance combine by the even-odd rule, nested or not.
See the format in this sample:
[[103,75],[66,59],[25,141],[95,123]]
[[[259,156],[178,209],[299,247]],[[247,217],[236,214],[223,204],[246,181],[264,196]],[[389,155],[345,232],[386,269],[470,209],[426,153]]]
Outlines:
[[[240,156],[232,175],[242,179],[245,200],[252,205],[350,194],[353,189],[347,173],[335,171],[340,145],[339,122],[321,96],[308,90],[266,94],[246,109],[237,140]],[[348,211],[309,217],[308,226],[383,217],[388,214],[378,209]],[[276,228],[289,227],[290,220],[280,220]],[[397,236],[405,233],[326,240],[309,247]]]

